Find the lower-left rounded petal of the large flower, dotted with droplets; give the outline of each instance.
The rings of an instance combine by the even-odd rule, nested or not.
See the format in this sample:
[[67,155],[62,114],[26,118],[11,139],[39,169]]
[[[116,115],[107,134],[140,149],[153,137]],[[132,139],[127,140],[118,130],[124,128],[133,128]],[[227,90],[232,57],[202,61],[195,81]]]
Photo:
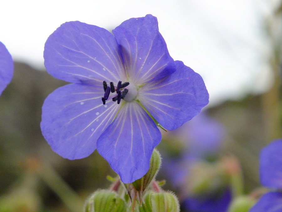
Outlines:
[[110,125],[119,105],[102,104],[103,88],[68,84],[44,101],[41,131],[51,148],[70,160],[87,157],[96,149],[97,138]]

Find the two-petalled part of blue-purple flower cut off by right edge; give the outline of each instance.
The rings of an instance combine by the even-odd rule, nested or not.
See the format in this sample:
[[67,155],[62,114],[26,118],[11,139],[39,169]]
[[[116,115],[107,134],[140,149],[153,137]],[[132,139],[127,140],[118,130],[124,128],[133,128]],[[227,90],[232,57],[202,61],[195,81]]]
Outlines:
[[282,211],[282,139],[274,140],[260,153],[260,181],[271,191],[265,193],[250,212]]

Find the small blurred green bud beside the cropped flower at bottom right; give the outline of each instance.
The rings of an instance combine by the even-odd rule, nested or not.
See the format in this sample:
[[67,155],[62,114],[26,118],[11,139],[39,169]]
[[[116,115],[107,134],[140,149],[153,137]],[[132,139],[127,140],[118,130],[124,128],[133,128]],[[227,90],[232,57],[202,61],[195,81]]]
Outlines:
[[237,197],[232,201],[228,212],[248,212],[255,202],[256,201],[249,196]]

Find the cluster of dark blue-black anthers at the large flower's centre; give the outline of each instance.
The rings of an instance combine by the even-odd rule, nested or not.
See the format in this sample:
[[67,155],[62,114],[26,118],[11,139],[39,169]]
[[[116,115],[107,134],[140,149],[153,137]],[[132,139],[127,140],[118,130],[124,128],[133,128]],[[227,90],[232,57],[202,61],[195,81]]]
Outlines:
[[[121,99],[124,99],[124,97],[128,93],[128,89],[125,88],[128,85],[129,85],[129,82],[122,83],[121,81],[118,81],[117,87],[114,86],[113,82],[110,82],[110,87],[109,87],[107,85],[107,82],[103,81],[103,88],[104,88],[104,91],[105,91],[104,97],[102,97],[103,105],[106,104],[106,100],[109,98],[110,93],[111,92],[114,93],[115,91],[117,92],[118,95],[113,97],[112,101],[117,101],[117,103],[119,104]],[[123,92],[121,92],[121,90],[123,90]]]

